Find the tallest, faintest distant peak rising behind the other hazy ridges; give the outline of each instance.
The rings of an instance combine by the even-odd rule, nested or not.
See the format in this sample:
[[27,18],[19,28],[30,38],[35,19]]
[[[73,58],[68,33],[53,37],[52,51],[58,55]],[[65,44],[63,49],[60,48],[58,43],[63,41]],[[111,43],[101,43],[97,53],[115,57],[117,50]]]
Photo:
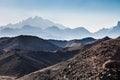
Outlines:
[[30,26],[34,26],[34,27],[39,27],[41,29],[45,29],[45,28],[48,28],[48,27],[51,27],[51,26],[58,26],[60,29],[64,29],[65,27],[63,25],[60,25],[60,24],[56,24],[50,20],[47,20],[47,19],[43,19],[42,17],[30,17],[26,20],[23,20],[19,23],[16,23],[16,24],[8,24],[6,26],[2,26],[2,27],[8,27],[8,28],[22,28],[23,26],[25,25],[30,25]]

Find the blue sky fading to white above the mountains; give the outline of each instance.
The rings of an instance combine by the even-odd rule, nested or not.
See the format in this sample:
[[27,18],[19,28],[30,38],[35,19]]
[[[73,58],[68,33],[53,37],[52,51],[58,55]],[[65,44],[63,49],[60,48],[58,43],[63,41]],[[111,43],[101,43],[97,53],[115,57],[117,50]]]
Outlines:
[[0,0],[0,26],[34,16],[95,32],[117,24],[120,0]]

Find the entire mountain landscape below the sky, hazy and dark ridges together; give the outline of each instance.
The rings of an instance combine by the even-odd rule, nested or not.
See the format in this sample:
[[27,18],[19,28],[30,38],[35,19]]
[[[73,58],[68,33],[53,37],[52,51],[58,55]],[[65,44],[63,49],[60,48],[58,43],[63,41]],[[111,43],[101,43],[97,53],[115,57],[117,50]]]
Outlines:
[[41,17],[1,26],[0,80],[120,80],[119,34],[120,21],[95,33]]

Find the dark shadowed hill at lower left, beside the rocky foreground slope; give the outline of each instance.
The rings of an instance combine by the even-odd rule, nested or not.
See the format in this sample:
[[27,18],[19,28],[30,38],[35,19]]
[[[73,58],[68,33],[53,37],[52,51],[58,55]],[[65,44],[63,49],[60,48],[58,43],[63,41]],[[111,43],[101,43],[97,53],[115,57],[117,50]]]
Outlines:
[[0,55],[0,75],[20,77],[73,57],[77,52],[12,50]]

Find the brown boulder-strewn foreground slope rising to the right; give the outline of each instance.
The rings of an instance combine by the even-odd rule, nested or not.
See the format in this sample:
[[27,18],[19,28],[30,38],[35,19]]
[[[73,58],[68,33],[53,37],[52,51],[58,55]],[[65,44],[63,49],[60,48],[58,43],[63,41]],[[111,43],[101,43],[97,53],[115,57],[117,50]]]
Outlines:
[[65,62],[17,80],[119,80],[120,38],[99,41]]

